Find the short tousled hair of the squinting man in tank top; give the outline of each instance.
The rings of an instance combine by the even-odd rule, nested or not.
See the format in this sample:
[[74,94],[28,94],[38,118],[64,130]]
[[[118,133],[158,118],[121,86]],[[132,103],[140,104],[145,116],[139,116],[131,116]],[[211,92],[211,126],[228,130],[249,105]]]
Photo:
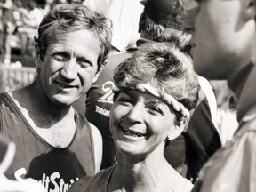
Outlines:
[[35,37],[36,52],[39,53],[40,59],[44,59],[46,49],[51,44],[52,30],[72,32],[79,29],[88,29],[93,36],[99,38],[101,50],[98,70],[100,70],[105,64],[111,47],[112,22],[102,14],[93,12],[82,4],[57,4],[51,12],[44,16],[38,28],[38,37]]

